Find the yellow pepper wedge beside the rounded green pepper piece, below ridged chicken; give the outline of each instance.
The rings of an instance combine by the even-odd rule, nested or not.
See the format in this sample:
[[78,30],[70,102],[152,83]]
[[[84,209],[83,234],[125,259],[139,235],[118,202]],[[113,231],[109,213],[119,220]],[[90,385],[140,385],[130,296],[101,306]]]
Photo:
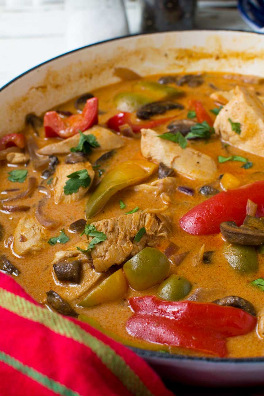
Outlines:
[[128,284],[122,268],[108,276],[99,286],[95,287],[79,304],[81,307],[91,308],[102,303],[109,303],[124,297]]

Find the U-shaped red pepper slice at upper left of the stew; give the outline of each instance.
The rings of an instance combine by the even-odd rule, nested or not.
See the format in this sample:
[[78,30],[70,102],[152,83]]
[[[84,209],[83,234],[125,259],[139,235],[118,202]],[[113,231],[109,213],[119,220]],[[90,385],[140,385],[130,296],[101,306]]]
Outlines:
[[61,118],[56,111],[48,111],[44,116],[46,137],[67,137],[76,135],[78,131],[85,131],[98,123],[98,99],[93,97],[86,101],[81,114],[73,114]]

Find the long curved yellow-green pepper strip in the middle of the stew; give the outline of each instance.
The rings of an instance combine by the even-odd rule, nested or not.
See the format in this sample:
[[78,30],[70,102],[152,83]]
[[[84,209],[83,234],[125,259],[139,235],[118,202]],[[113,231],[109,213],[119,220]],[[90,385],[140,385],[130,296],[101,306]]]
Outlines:
[[141,183],[158,165],[145,160],[127,161],[111,169],[103,178],[86,204],[86,217],[90,219],[122,188]]

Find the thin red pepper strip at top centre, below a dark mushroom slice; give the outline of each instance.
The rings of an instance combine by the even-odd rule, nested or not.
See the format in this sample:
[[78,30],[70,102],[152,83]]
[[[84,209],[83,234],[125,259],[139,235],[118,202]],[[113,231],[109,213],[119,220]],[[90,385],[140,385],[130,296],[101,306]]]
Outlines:
[[151,120],[148,122],[133,124],[131,122],[131,113],[122,112],[109,118],[109,120],[107,121],[107,126],[108,128],[114,129],[114,131],[119,132],[120,131],[119,127],[121,125],[128,124],[132,128],[133,132],[140,132],[142,128],[155,128],[156,126],[165,124],[165,122],[168,122],[173,118],[175,117],[160,118],[159,120]]

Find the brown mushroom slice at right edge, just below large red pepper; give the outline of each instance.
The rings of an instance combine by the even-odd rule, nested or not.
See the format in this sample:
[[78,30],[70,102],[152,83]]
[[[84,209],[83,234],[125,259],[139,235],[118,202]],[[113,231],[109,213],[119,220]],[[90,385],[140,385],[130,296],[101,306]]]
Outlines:
[[234,221],[220,224],[222,236],[232,244],[259,246],[264,244],[264,231],[258,228],[242,225],[237,227]]

